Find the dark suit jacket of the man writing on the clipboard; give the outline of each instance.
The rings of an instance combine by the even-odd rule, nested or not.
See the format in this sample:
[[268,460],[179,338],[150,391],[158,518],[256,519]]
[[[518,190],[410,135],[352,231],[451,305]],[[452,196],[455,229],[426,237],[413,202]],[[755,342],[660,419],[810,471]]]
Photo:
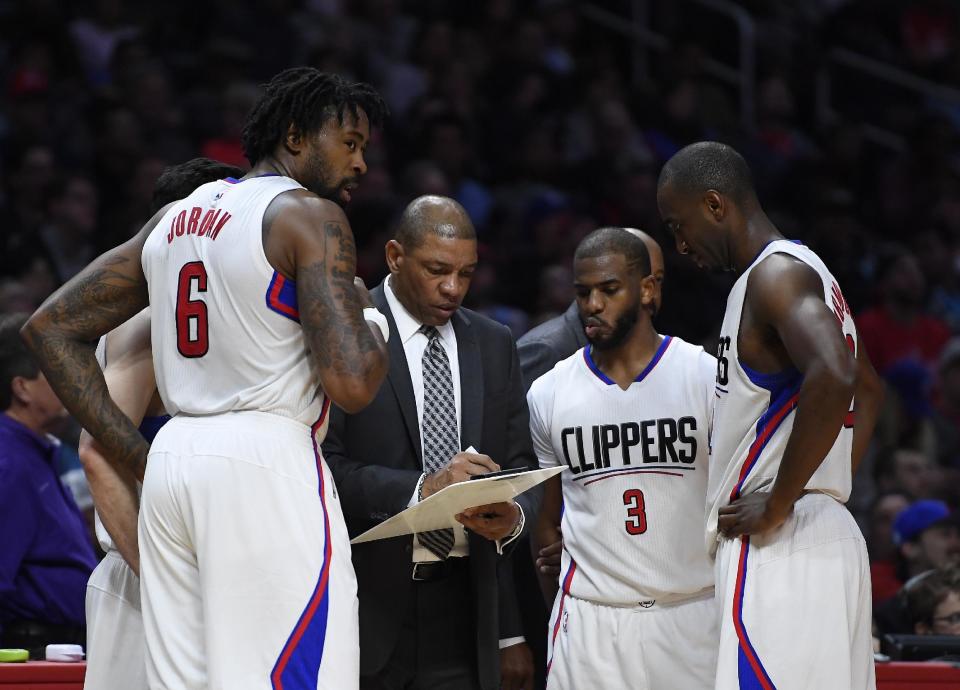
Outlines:
[[[420,424],[403,343],[383,284],[371,292],[387,317],[390,371],[376,398],[355,415],[334,408],[323,455],[340,493],[351,536],[404,510],[422,472]],[[501,468],[536,467],[520,363],[510,331],[467,309],[454,314],[461,391],[461,448],[473,446]],[[540,492],[517,498],[526,516],[524,531],[536,520]],[[411,580],[410,536],[353,547],[360,599],[360,671],[383,668],[397,642],[407,611]],[[495,544],[469,534],[470,580],[476,602],[477,666],[484,690],[499,687],[498,640],[520,634],[498,620],[498,558]]]

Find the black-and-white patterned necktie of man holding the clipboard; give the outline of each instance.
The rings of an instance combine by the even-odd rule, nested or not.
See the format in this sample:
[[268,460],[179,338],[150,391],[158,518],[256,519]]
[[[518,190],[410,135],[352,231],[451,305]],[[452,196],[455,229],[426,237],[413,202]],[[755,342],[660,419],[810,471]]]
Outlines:
[[[423,351],[423,420],[420,436],[423,439],[423,471],[432,474],[450,462],[460,452],[460,432],[457,429],[457,405],[453,397],[453,377],[450,360],[440,342],[440,333],[433,326],[421,326],[427,336]],[[420,543],[437,558],[443,560],[453,548],[453,530],[420,532]]]

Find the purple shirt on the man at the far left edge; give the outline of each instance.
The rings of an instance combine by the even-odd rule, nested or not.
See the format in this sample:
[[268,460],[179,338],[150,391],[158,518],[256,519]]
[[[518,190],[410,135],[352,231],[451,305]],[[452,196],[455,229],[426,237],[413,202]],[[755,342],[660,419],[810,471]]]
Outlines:
[[0,413],[0,629],[14,620],[84,624],[84,592],[97,559],[54,469],[55,450]]

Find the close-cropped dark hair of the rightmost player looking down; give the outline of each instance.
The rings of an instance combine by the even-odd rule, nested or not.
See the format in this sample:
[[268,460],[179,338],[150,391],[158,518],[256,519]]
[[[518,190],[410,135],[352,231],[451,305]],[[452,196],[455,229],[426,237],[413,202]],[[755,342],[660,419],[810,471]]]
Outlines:
[[712,189],[739,206],[757,200],[753,176],[743,156],[717,141],[699,141],[674,154],[660,171],[657,191],[668,186],[682,196],[699,197]]

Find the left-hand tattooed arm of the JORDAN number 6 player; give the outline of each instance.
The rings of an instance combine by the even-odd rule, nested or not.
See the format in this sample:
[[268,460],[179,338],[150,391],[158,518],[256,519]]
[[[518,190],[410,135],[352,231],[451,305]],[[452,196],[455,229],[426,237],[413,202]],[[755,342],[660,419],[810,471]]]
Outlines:
[[118,471],[137,479],[143,478],[148,445],[111,400],[94,350],[100,336],[147,306],[140,252],[164,210],[48,297],[21,331],[64,406]]

